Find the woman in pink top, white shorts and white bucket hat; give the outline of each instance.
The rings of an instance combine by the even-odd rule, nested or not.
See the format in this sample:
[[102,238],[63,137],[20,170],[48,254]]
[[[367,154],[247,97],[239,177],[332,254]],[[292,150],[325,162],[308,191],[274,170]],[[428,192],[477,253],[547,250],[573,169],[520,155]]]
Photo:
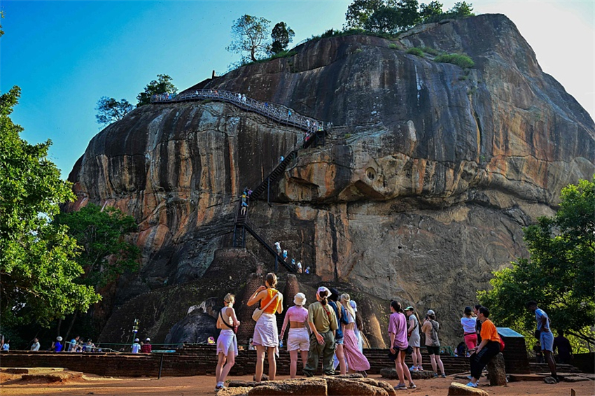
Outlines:
[[287,350],[291,358],[289,374],[295,378],[297,374],[297,351],[302,355],[302,365],[306,365],[308,360],[308,349],[310,348],[310,334],[306,328],[308,320],[308,310],[304,308],[306,296],[304,293],[297,293],[293,297],[294,306],[290,307],[285,314],[283,327],[281,327],[281,339],[285,334],[285,329],[289,323],[289,335],[287,336]]

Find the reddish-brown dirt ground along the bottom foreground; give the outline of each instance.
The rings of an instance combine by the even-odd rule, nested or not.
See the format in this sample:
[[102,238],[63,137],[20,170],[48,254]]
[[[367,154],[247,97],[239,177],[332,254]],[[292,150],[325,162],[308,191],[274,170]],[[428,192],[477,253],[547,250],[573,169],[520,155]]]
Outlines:
[[[288,376],[278,376],[277,379],[288,379]],[[382,379],[379,375],[370,378]],[[251,381],[251,376],[231,376],[228,379]],[[416,381],[416,389],[398,391],[402,395],[448,395],[448,387],[452,381],[463,383],[462,380],[426,379]],[[63,383],[39,383],[40,381],[23,381],[20,376],[3,374],[0,377],[0,395],[6,396],[38,396],[38,395],[133,395],[133,396],[194,396],[215,395],[214,376],[164,377],[156,378],[126,378],[102,377],[85,374],[82,379],[75,379]],[[393,386],[397,381],[388,381]],[[489,395],[552,395],[570,396],[575,390],[576,396],[595,395],[595,381],[577,383],[561,382],[556,385],[537,381],[512,382],[507,386],[480,386]]]

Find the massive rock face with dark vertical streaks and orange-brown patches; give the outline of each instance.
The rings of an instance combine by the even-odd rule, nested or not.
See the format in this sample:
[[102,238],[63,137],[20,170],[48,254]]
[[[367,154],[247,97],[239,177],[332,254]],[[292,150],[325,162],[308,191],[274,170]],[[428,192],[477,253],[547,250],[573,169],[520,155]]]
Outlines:
[[[475,68],[409,55],[412,46],[465,52]],[[522,227],[595,173],[593,120],[503,15],[296,51],[207,86],[334,125],[325,146],[300,151],[272,206],[251,203],[253,228],[323,281],[433,309],[442,344],[455,345],[461,308],[491,271],[526,255]],[[95,136],[71,173],[69,209],[109,204],[140,224],[141,271],[120,278],[116,306],[199,280],[229,246],[241,189],[300,137],[217,102],[143,106]],[[247,248],[272,268],[257,242]]]

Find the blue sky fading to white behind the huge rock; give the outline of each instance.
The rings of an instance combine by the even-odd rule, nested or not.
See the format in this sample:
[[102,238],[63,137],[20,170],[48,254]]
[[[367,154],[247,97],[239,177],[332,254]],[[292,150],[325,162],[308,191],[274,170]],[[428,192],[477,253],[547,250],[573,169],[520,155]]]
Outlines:
[[[428,0],[429,1],[429,0]],[[427,2],[427,1],[426,1]],[[554,76],[595,118],[595,0],[479,0],[476,14],[507,15]],[[225,48],[244,14],[286,22],[291,45],[344,24],[351,0],[0,1],[0,91],[22,89],[13,122],[29,143],[52,140],[50,160],[70,173],[101,129],[103,96],[136,104],[168,74],[183,90],[239,59]],[[420,1],[423,3],[423,0]],[[444,10],[454,1],[442,1]]]

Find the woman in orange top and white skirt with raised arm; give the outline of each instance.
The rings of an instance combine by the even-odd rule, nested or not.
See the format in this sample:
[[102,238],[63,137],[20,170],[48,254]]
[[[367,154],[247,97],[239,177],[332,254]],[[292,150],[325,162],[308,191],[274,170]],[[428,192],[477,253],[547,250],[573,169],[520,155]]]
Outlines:
[[264,309],[254,327],[253,344],[256,347],[256,374],[255,381],[262,379],[262,370],[265,365],[265,352],[269,358],[269,380],[274,381],[276,374],[275,355],[279,355],[279,332],[276,328],[275,313],[283,312],[283,295],[275,289],[276,275],[272,272],[267,274],[265,286],[260,286],[250,299],[248,306],[260,302],[260,308]]

